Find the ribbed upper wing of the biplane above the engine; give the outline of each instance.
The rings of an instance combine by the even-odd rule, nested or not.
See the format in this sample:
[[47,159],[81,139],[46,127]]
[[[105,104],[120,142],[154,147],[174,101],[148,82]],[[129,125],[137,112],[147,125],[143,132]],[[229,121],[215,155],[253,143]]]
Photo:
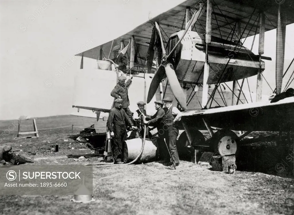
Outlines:
[[[179,30],[185,28],[184,16],[187,7],[190,7],[191,12],[195,12],[198,9],[198,3],[202,0],[187,0],[183,1],[178,6],[161,13],[160,15],[146,21],[142,25],[137,26],[130,32],[122,32],[122,35],[118,38],[113,38],[113,46],[120,44],[121,41],[125,45],[128,44],[128,39],[134,35],[137,48],[138,62],[144,62],[144,58],[148,52],[148,46],[151,39],[153,23],[156,21],[162,28],[163,38],[168,42],[168,38],[171,34],[176,33]],[[258,28],[258,13],[259,11],[265,12],[265,31],[277,28],[277,13],[278,3],[283,5],[283,13],[287,13],[287,24],[294,22],[294,4],[290,0],[212,0],[213,4],[213,17],[212,17],[212,36],[227,39],[231,34],[231,30],[234,28],[236,21],[240,22],[240,33],[244,34],[242,38],[252,36],[255,34],[255,29]],[[251,17],[251,13],[255,11]],[[251,17],[251,19],[250,19]],[[250,22],[247,25],[248,20]],[[250,28],[252,27],[251,31]],[[206,11],[202,17],[198,19],[192,30],[198,32],[201,37],[205,36],[206,29]],[[259,30],[257,29],[257,34]],[[92,59],[98,59],[100,48],[102,48],[104,56],[108,57],[108,53],[111,49],[111,39],[109,42],[101,44],[92,49],[86,50],[77,56],[84,56]],[[230,39],[230,38],[229,38]],[[166,45],[166,44],[165,44]],[[130,56],[130,48],[126,54]],[[141,56],[141,58],[140,58]]]

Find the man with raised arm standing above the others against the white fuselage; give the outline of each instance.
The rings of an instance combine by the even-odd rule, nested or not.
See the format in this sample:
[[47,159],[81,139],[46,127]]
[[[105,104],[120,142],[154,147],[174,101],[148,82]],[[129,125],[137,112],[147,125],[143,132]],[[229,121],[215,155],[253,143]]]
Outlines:
[[114,97],[115,99],[121,98],[123,100],[123,110],[126,112],[128,117],[133,120],[133,113],[131,112],[130,108],[130,100],[128,98],[128,89],[127,87],[131,85],[133,76],[130,75],[130,79],[125,83],[126,76],[119,76],[118,77],[118,83],[114,87],[114,89],[111,91],[110,95]]

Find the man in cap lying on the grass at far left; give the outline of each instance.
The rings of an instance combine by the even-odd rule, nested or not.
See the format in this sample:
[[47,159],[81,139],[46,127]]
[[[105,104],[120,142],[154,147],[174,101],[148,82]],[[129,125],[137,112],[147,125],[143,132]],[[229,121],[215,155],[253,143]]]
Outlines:
[[12,152],[11,146],[4,146],[2,152],[0,152],[0,164],[20,165],[25,163],[34,163],[34,161],[24,156],[16,155],[14,152]]

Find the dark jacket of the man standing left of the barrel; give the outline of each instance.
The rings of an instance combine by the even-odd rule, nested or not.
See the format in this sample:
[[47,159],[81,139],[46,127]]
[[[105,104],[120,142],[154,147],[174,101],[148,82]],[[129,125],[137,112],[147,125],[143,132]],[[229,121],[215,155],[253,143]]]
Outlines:
[[109,131],[126,131],[126,124],[128,124],[129,126],[133,126],[133,123],[126,112],[122,108],[118,109],[116,107],[113,107],[109,112],[108,120],[106,123]]

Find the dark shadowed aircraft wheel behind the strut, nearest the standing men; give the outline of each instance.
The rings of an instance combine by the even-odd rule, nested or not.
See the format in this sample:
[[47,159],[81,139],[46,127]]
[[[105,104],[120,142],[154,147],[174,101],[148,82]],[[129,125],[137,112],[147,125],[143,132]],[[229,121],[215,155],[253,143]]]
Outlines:
[[[204,143],[205,142],[205,138],[204,135],[198,131],[197,129],[191,129],[191,133],[192,133],[192,139],[193,139],[193,143],[192,145],[197,145],[199,143]],[[186,135],[186,131],[184,131],[178,141],[177,141],[177,150],[178,150],[178,154],[179,157],[181,158],[190,158],[191,156],[191,152],[193,152],[193,146],[190,145],[187,135]]]

